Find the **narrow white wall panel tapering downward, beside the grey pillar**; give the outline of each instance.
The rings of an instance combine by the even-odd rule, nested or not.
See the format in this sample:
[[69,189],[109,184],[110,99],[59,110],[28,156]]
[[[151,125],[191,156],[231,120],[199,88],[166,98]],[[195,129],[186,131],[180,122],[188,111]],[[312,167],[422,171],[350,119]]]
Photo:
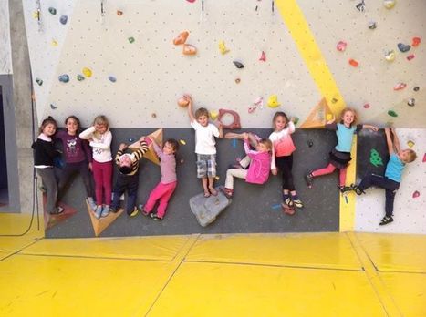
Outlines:
[[[48,98],[53,83],[57,80],[57,64],[72,17],[76,0],[22,0],[26,20],[26,37],[33,76],[33,85],[36,95],[36,109],[38,120],[46,115],[44,109],[49,107]],[[57,10],[56,15],[49,13],[49,7]],[[39,19],[36,13],[39,9]],[[68,18],[67,23],[61,24],[62,15]],[[36,83],[36,78],[43,81]]]

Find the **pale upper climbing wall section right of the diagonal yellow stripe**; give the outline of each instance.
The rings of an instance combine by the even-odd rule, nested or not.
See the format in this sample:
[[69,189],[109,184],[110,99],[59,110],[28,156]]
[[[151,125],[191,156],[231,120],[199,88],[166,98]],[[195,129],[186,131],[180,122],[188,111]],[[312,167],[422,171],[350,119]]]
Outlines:
[[[400,128],[426,128],[426,1],[396,1],[387,9],[382,0],[365,0],[364,11],[356,6],[361,0],[298,0],[317,45],[338,83],[347,105],[358,109],[363,122],[393,122]],[[369,23],[376,22],[375,29]],[[419,46],[411,46],[412,38],[420,37]],[[338,51],[339,41],[347,43]],[[401,53],[398,43],[410,45]],[[395,59],[385,59],[394,50]],[[413,56],[408,60],[408,56]],[[353,67],[353,58],[359,66]],[[393,90],[399,84],[407,87]],[[415,91],[415,87],[419,87]],[[416,89],[417,90],[417,89]],[[414,98],[415,106],[408,106]],[[369,107],[365,108],[364,105]],[[398,117],[390,117],[388,111]]]

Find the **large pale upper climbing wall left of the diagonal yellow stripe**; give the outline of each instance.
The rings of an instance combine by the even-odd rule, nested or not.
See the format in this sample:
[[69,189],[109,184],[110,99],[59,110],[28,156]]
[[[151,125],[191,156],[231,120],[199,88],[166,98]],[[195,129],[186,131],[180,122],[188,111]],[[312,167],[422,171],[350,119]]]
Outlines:
[[[26,3],[34,7],[34,1]],[[188,118],[176,99],[190,93],[195,107],[234,109],[244,128],[265,128],[277,109],[303,119],[321,98],[281,16],[268,2],[204,1],[202,10],[201,0],[108,0],[102,16],[100,0],[78,1],[72,18],[68,16],[57,66],[51,61],[56,56],[50,58],[45,51],[59,51],[50,45],[50,32],[66,26],[56,21],[58,16],[49,16],[47,7],[54,5],[45,3],[45,17],[57,25],[44,27],[43,43],[37,39],[36,20],[28,20],[31,54],[38,55],[34,77],[52,80],[36,90],[37,107],[45,117],[62,121],[75,114],[88,125],[103,113],[112,127],[184,128],[189,127]],[[118,10],[123,14],[117,15]],[[185,30],[190,32],[187,43],[198,48],[196,56],[182,56],[182,46],[172,44]],[[130,43],[129,37],[135,41]],[[225,55],[218,48],[221,40],[230,49]],[[262,51],[265,62],[259,61]],[[237,69],[234,60],[244,69]],[[83,67],[93,75],[78,81]],[[68,74],[70,81],[59,82],[61,74]],[[117,81],[112,83],[109,76]],[[282,107],[266,107],[273,94]],[[257,97],[264,97],[265,107],[249,114]]]

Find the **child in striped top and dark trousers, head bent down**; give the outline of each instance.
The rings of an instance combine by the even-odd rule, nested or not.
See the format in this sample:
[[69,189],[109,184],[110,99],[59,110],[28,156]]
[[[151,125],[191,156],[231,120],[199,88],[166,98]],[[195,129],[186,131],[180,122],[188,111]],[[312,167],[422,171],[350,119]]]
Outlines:
[[126,213],[130,216],[136,216],[138,210],[135,208],[136,196],[139,187],[139,161],[148,150],[145,137],[140,138],[140,147],[133,153],[124,153],[128,148],[125,143],[119,145],[119,151],[115,156],[115,162],[119,166],[119,175],[117,176],[114,190],[112,193],[112,205],[109,211],[117,212],[119,210],[119,197],[128,190]]

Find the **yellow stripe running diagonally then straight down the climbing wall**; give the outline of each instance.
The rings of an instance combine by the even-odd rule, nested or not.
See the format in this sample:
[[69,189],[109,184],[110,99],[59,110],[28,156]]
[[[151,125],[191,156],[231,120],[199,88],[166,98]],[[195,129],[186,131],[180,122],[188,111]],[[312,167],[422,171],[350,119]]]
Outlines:
[[[296,0],[275,0],[275,5],[283,21],[296,42],[307,69],[316,83],[321,96],[325,97],[330,110],[338,118],[346,107],[338,85],[328,69],[327,62],[321,54],[315,37],[312,35],[307,20],[297,5]],[[354,138],[356,142],[356,138]],[[355,182],[356,147],[352,147],[351,164],[348,167],[347,183]],[[347,201],[348,199],[348,201]],[[353,230],[355,222],[355,198],[353,194],[340,195],[340,231]]]

